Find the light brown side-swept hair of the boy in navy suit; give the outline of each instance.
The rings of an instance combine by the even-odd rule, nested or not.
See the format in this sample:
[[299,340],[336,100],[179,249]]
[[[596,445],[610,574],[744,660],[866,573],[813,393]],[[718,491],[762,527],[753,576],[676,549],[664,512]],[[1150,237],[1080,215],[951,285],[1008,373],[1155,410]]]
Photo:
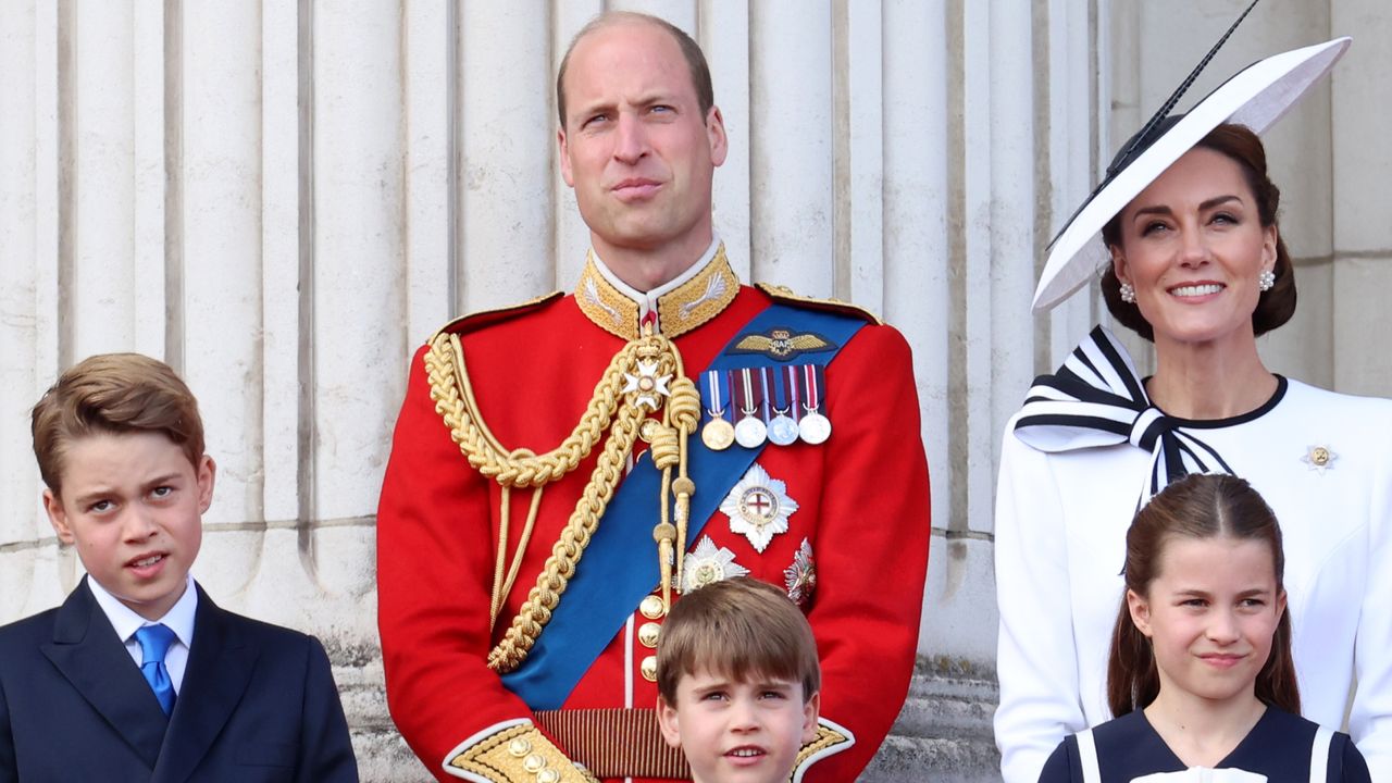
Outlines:
[[33,407],[31,432],[39,474],[54,495],[68,444],[90,435],[159,432],[191,464],[203,458],[198,400],[167,364],[141,354],[97,354],[70,368]]

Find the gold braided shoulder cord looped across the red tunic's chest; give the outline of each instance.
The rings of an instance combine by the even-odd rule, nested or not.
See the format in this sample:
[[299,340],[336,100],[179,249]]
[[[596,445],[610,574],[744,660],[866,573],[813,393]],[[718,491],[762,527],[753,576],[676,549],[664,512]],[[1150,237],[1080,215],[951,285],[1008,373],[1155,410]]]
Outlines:
[[[632,378],[635,372],[640,373],[640,362],[647,362],[649,369],[656,364],[658,378],[674,376],[665,405],[663,397],[650,390],[625,392],[625,375]],[[579,424],[560,446],[546,454],[535,454],[526,449],[509,451],[489,431],[479,414],[464,362],[464,350],[457,334],[437,336],[430,350],[426,351],[425,364],[430,382],[430,397],[436,401],[436,412],[450,428],[450,436],[475,470],[503,488],[498,557],[494,568],[491,603],[494,623],[530,541],[540,507],[541,488],[578,468],[608,432],[600,458],[590,474],[590,481],[561,529],[560,538],[553,545],[551,556],[547,557],[537,575],[536,585],[532,587],[518,614],[512,619],[503,641],[489,653],[491,669],[504,673],[516,669],[526,659],[543,627],[550,621],[551,612],[560,605],[561,594],[575,574],[576,564],[599,528],[604,509],[614,495],[614,488],[624,475],[624,465],[640,429],[653,444],[654,465],[663,471],[661,522],[654,528],[653,535],[658,542],[663,598],[670,600],[672,561],[675,559],[679,577],[681,553],[685,549],[685,546],[674,546],[674,543],[675,541],[685,542],[689,499],[695,492],[695,485],[686,475],[686,440],[700,422],[700,393],[696,390],[696,385],[685,376],[677,346],[650,330],[628,343],[610,361]],[[644,405],[654,410],[665,408],[663,419],[647,419]],[[672,468],[678,470],[675,479],[671,475]],[[518,550],[514,553],[512,566],[504,577],[503,563],[511,511],[509,490],[528,486],[535,488],[535,493],[526,527]],[[672,507],[668,497],[675,500],[677,525],[670,522]]]

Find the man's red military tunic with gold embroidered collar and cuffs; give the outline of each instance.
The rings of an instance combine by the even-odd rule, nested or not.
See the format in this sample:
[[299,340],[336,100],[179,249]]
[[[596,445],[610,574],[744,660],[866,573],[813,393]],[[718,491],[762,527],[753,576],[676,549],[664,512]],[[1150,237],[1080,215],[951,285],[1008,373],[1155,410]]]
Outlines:
[[[693,272],[664,293],[654,309],[658,329],[681,327],[672,341],[695,379],[773,300],[738,286],[724,252]],[[732,284],[711,297],[724,288],[711,283],[717,276]],[[507,449],[544,453],[580,419],[596,382],[626,344],[614,332],[636,329],[597,323],[638,311],[636,305],[614,307],[622,304],[615,298],[621,291],[608,284],[614,280],[592,265],[576,295],[445,327],[459,334],[477,411]],[[678,302],[690,307],[677,308]],[[544,488],[518,577],[490,633],[501,489],[470,468],[451,439],[430,396],[425,352],[411,365],[377,517],[379,624],[391,715],[440,780],[450,780],[451,773],[470,780],[537,780],[501,768],[465,773],[447,763],[470,748],[497,744],[500,731],[521,731],[533,718],[487,667],[487,656],[551,555],[601,447]],[[786,520],[788,531],[773,535],[757,552],[752,536],[735,532],[731,518],[717,511],[697,542],[709,536],[706,552],[714,545],[724,560],[732,555],[734,564],[750,575],[785,588],[799,549],[805,542],[810,548],[816,587],[800,598],[821,656],[821,716],[853,744],[832,743],[799,769],[806,782],[845,782],[866,766],[898,716],[916,652],[930,534],[928,476],[903,337],[888,326],[862,327],[825,369],[821,411],[834,426],[825,443],[770,444],[756,460],[770,478],[785,483],[786,496],[798,504]],[[700,447],[697,440],[692,437],[692,447]],[[638,442],[635,450],[642,447]],[[697,486],[696,492],[724,496],[729,488]],[[519,545],[530,500],[530,490],[512,490],[509,553]],[[633,553],[657,556],[651,538],[635,542]],[[688,555],[686,567],[692,564]],[[582,557],[578,570],[585,566]],[[562,607],[564,602],[562,594]],[[638,609],[562,711],[653,709],[657,688],[651,662],[644,667],[644,660],[656,642],[653,628],[643,626],[654,619]]]

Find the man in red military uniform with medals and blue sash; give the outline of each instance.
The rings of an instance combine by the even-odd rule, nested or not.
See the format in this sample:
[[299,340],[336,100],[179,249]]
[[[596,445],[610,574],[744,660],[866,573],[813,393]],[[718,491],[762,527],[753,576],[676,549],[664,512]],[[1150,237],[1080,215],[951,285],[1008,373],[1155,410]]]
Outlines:
[[739,284],[711,228],[725,128],[679,29],[597,18],[557,98],[592,252],[575,294],[458,319],[411,366],[377,521],[393,719],[440,780],[685,777],[653,709],[661,621],[749,573],[821,655],[795,776],[852,780],[903,704],[923,598],[908,344]]

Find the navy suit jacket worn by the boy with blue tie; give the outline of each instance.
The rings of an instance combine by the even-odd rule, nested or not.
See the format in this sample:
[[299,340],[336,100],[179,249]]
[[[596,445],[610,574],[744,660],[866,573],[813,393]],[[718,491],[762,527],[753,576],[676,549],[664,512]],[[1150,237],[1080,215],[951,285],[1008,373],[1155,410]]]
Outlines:
[[315,637],[219,609],[198,588],[168,718],[86,578],[63,606],[0,628],[0,782],[356,782]]

